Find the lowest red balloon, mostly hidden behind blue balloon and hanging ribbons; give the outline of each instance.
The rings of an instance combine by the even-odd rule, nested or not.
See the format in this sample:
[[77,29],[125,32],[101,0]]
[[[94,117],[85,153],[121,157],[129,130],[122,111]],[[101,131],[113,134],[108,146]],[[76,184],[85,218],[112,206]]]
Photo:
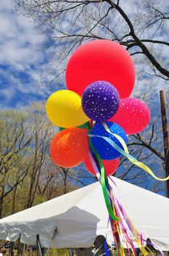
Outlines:
[[[113,160],[102,160],[102,162],[107,176],[114,174],[119,166],[119,158]],[[95,170],[88,155],[84,159],[84,165],[87,167],[87,170],[95,176]]]

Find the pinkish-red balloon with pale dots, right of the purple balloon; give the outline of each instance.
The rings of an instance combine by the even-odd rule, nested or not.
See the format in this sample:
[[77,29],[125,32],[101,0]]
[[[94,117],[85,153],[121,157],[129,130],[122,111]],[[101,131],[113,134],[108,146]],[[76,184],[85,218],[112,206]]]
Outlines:
[[119,124],[127,133],[133,135],[143,131],[150,121],[148,106],[140,99],[121,99],[117,113],[109,120]]

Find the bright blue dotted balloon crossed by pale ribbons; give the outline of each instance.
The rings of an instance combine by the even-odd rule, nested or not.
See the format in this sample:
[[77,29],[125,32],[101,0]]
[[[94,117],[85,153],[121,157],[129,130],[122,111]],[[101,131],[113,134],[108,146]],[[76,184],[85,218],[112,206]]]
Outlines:
[[[127,143],[127,135],[122,127],[111,121],[106,121],[105,123],[107,124],[109,130],[112,133],[119,135],[123,140],[125,140],[125,143]],[[122,144],[119,142],[119,140],[117,140],[114,135],[111,135],[109,132],[107,132],[106,129],[103,127],[102,123],[96,123],[94,127],[90,130],[90,135],[98,135],[110,138],[114,141],[114,143],[117,144],[117,146],[123,149]],[[100,155],[101,159],[110,160],[116,159],[117,157],[121,156],[121,153],[119,153],[117,149],[111,146],[104,138],[91,137],[91,141],[95,150]]]

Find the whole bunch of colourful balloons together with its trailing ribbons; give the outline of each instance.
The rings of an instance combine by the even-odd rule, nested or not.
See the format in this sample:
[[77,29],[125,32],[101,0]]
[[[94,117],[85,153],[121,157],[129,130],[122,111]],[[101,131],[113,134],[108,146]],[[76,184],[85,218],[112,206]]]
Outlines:
[[[52,94],[46,110],[50,120],[60,127],[50,145],[52,159],[61,167],[84,162],[101,183],[118,255],[125,255],[124,241],[128,252],[136,255],[134,241],[146,256],[142,234],[127,217],[109,177],[117,170],[122,154],[157,180],[169,180],[169,176],[155,176],[128,152],[127,135],[141,132],[150,120],[146,104],[130,97],[134,83],[134,64],[125,48],[109,40],[87,42],[68,61],[68,89]],[[113,181],[112,187],[109,180]],[[106,243],[105,252],[108,256]]]

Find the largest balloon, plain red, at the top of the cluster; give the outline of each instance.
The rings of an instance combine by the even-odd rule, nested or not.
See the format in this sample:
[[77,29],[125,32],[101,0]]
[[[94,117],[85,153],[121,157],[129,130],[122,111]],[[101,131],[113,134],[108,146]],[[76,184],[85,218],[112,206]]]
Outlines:
[[75,50],[66,68],[68,90],[82,95],[98,80],[116,87],[120,98],[129,97],[135,83],[135,67],[122,45],[111,40],[93,40]]

